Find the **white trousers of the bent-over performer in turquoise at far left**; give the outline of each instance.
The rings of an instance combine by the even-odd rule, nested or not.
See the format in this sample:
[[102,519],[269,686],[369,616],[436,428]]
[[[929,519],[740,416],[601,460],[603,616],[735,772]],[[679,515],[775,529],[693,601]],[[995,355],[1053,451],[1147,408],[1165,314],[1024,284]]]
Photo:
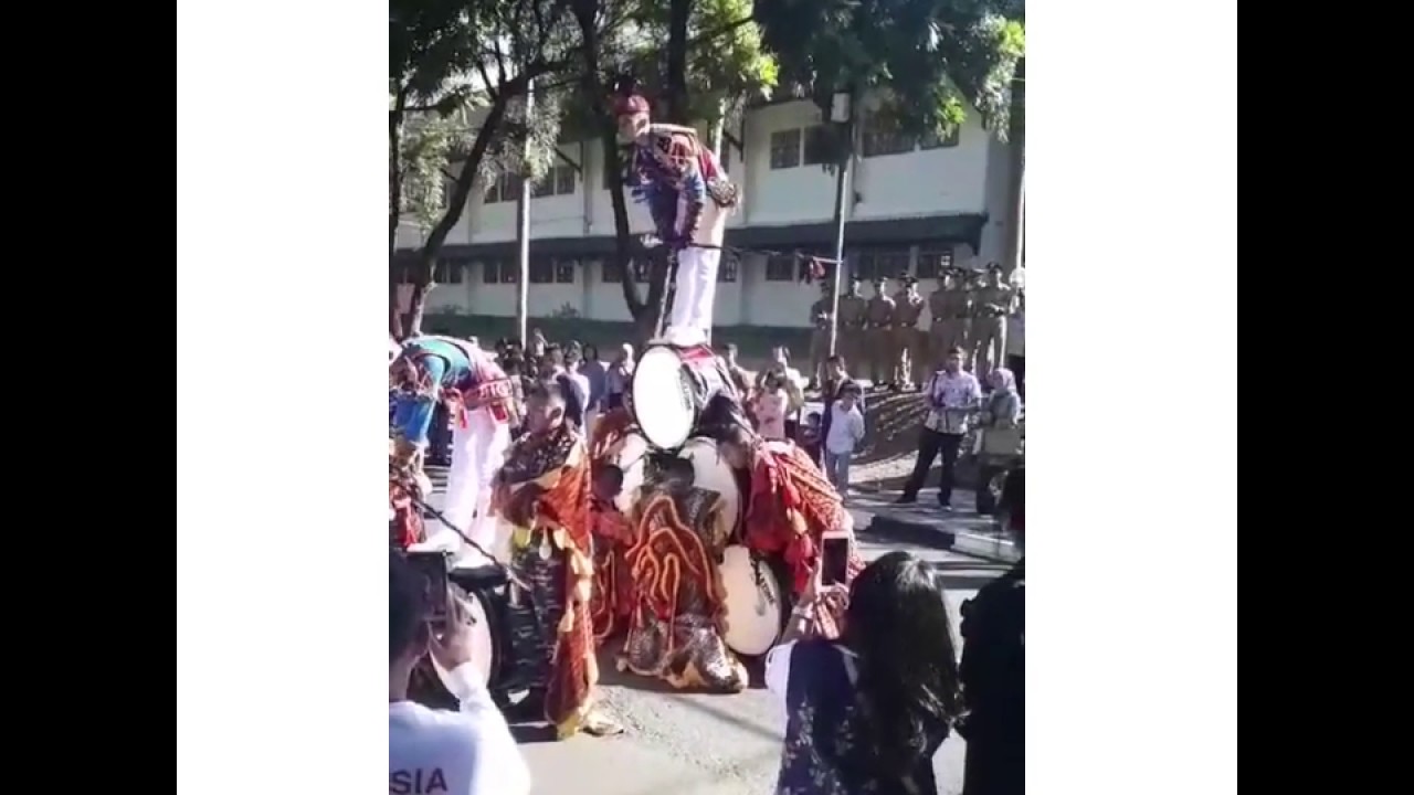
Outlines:
[[498,553],[499,546],[496,519],[491,516],[491,481],[509,447],[510,426],[498,423],[486,409],[471,412],[465,429],[452,427],[443,515],[491,553]]

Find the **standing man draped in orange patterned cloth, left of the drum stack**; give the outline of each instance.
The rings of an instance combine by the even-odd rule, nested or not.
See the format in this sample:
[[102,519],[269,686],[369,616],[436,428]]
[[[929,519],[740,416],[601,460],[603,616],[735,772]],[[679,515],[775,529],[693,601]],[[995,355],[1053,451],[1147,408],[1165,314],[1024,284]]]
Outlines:
[[532,700],[543,700],[561,738],[618,731],[591,713],[600,671],[590,615],[590,461],[583,437],[564,419],[559,385],[539,383],[526,396],[526,433],[496,475],[492,508],[513,528],[510,570],[519,583],[512,604],[530,600],[539,618],[530,629],[539,642],[526,644],[542,649]]

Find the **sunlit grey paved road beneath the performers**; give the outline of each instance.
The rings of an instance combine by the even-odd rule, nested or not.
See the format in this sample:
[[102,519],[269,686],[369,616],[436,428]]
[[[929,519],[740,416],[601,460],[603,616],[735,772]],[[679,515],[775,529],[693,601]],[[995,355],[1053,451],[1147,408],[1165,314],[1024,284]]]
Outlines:
[[[438,484],[440,485],[440,484]],[[440,495],[437,495],[440,497]],[[440,502],[434,497],[434,505]],[[957,608],[981,583],[1001,573],[997,564],[953,553],[880,542],[861,535],[865,557],[908,549],[936,562],[949,577],[954,629]],[[536,795],[755,795],[772,791],[783,736],[783,710],[764,687],[715,696],[676,693],[656,682],[614,669],[612,654],[600,656],[600,693],[625,724],[619,737],[546,741],[537,727],[518,727]],[[949,738],[935,758],[940,795],[962,791],[963,741]]]

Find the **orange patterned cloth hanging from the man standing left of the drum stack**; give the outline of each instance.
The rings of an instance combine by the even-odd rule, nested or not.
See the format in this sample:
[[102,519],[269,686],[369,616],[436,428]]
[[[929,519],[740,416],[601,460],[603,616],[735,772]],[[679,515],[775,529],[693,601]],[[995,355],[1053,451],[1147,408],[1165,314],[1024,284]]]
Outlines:
[[[588,714],[598,682],[590,608],[594,562],[590,536],[590,461],[573,429],[551,431],[551,439],[522,439],[508,454],[503,471],[515,472],[496,484],[492,508],[503,511],[530,488],[532,525],[550,532],[564,567],[564,618],[556,628],[554,672],[546,690],[544,710],[561,737],[578,730]],[[527,480],[520,480],[527,478]],[[527,528],[518,528],[518,535]]]

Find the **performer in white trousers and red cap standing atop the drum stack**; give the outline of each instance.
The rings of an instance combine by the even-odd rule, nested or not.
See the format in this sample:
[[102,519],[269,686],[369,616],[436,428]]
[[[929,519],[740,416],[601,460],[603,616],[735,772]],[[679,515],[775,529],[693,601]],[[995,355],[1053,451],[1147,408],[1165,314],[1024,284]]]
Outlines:
[[663,338],[680,347],[706,344],[721,243],[727,216],[740,202],[738,188],[697,130],[653,124],[648,100],[631,86],[621,86],[615,116],[619,134],[633,141],[628,168],[633,197],[648,205],[658,238],[677,252],[677,293]]

